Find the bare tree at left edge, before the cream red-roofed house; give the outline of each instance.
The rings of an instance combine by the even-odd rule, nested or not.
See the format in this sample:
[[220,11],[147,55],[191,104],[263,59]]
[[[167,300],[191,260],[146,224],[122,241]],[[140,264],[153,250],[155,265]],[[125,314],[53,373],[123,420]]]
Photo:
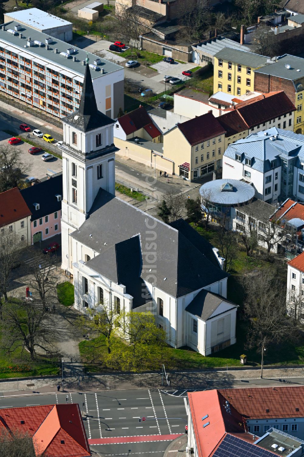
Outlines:
[[19,264],[20,250],[24,242],[16,237],[16,234],[3,228],[0,231],[0,318],[2,319],[2,301],[7,302],[7,292],[12,281],[12,269]]

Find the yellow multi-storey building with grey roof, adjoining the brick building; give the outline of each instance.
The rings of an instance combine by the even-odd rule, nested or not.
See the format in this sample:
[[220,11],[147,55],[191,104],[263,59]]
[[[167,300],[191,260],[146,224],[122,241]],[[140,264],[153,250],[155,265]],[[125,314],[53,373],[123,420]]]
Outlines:
[[254,70],[263,67],[267,57],[238,49],[224,48],[214,56],[213,92],[235,96],[254,90]]

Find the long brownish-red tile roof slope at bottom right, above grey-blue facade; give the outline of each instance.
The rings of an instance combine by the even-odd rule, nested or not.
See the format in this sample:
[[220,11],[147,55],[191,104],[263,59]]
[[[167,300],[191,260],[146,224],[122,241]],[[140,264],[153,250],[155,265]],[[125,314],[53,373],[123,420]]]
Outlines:
[[247,419],[304,417],[304,386],[220,389],[219,392]]

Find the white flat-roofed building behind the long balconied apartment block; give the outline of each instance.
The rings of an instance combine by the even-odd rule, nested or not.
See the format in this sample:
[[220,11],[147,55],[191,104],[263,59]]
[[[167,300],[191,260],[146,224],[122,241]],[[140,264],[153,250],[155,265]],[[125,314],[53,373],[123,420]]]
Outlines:
[[61,17],[54,16],[46,11],[38,10],[38,8],[5,13],[4,23],[8,28],[10,21],[17,21],[19,24],[38,32],[43,32],[61,41],[71,41],[73,39],[72,22],[65,21]]

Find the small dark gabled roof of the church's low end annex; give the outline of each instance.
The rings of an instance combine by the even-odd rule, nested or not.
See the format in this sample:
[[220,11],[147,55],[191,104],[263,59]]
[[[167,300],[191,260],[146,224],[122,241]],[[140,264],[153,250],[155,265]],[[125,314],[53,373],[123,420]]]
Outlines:
[[197,295],[195,295],[192,302],[189,303],[186,311],[206,321],[221,303],[228,303],[231,307],[237,307],[235,303],[226,300],[226,298],[221,297],[217,293],[208,292],[207,290],[202,289]]

